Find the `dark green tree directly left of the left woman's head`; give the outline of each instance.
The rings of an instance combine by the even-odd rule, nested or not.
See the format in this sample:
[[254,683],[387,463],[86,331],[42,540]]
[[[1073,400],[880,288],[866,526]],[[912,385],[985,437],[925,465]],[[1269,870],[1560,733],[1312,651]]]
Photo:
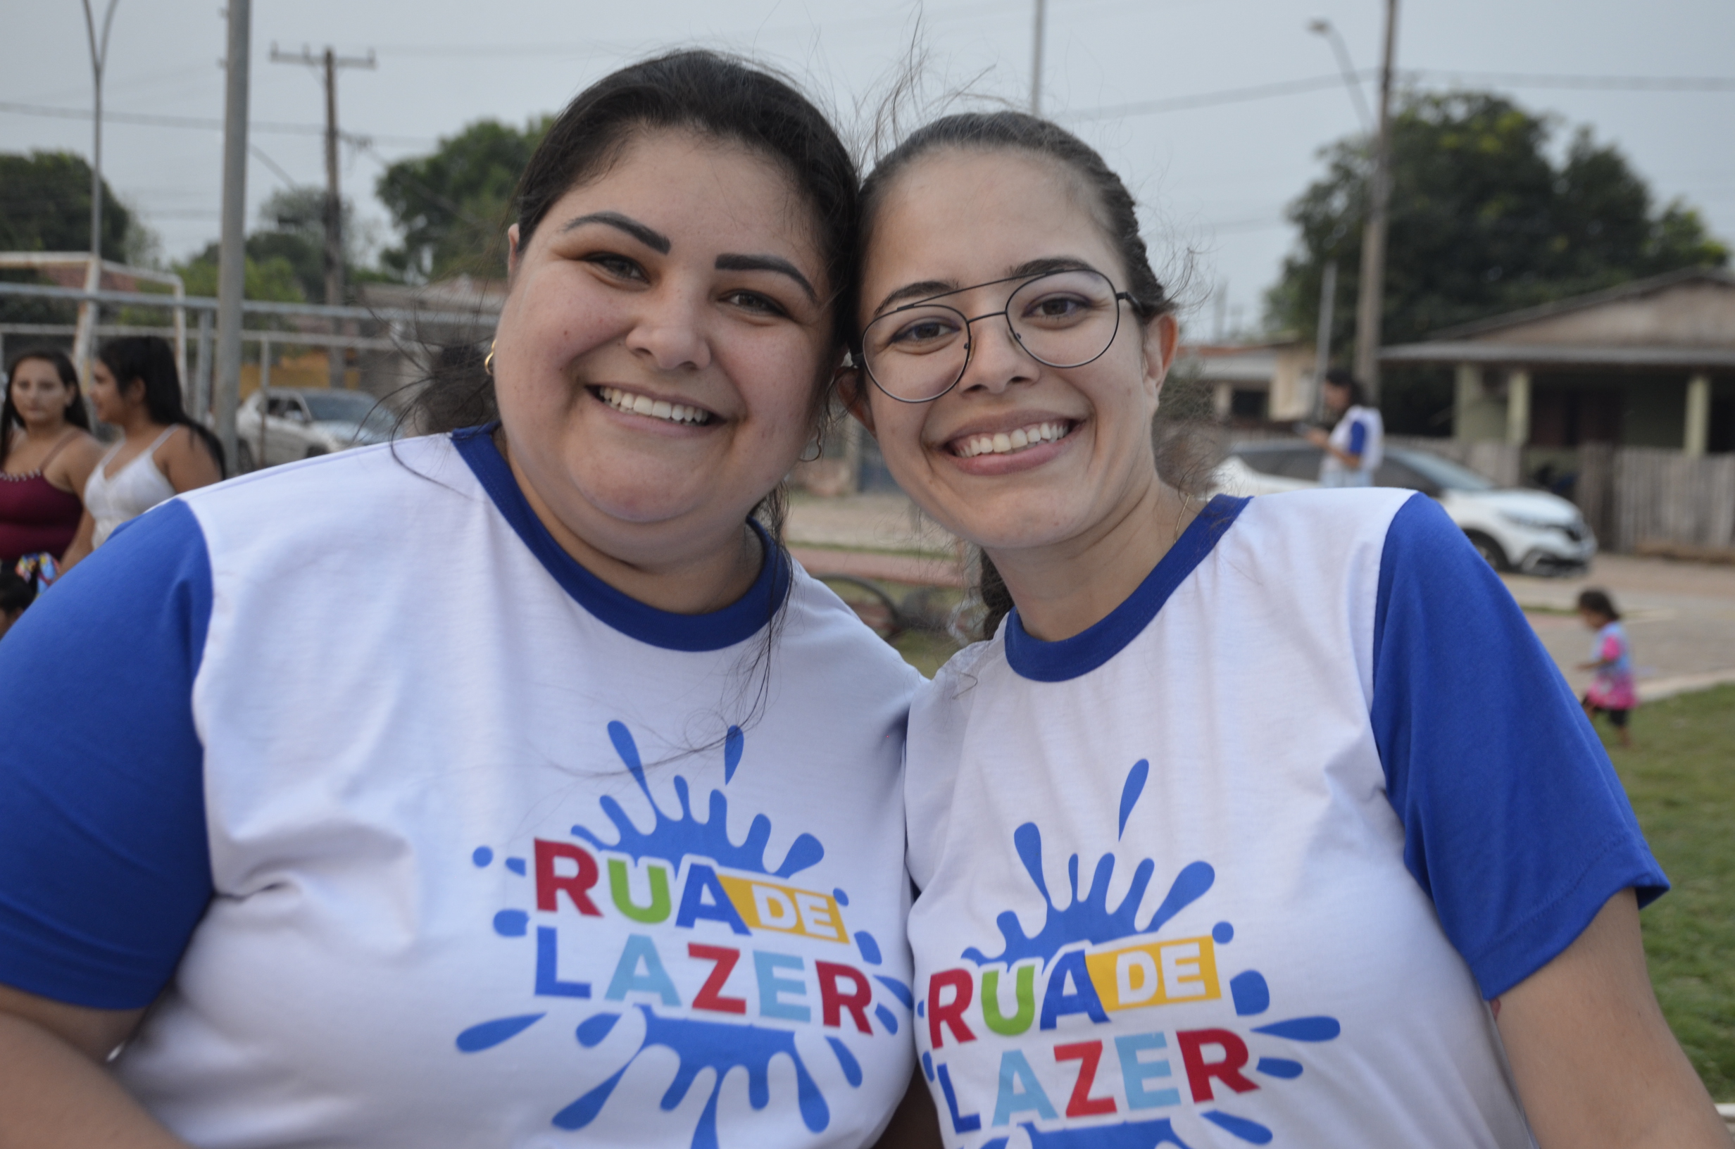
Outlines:
[[550,121],[543,116],[519,130],[477,120],[432,154],[385,168],[375,191],[403,243],[382,253],[382,266],[409,279],[500,276],[512,191]]

